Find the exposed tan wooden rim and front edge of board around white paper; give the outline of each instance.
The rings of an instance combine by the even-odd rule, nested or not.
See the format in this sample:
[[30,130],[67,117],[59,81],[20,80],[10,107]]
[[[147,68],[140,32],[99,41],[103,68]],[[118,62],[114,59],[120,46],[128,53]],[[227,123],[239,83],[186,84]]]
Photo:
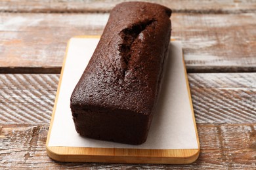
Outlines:
[[[95,37],[75,37],[73,39],[91,39]],[[62,84],[62,77],[65,70],[66,59],[68,57],[68,52],[70,48],[70,43],[68,44],[66,50],[66,57],[64,59],[64,64],[62,67],[62,73],[60,76],[60,82],[58,84],[58,90],[56,93],[56,99],[54,103],[53,115],[51,120],[51,125],[49,128],[49,133],[47,137],[47,154],[57,161],[80,161],[80,162],[108,162],[108,163],[192,163],[195,161],[200,153],[200,146],[198,140],[198,133],[196,129],[196,122],[194,119],[194,111],[192,108],[192,100],[190,97],[190,90],[188,86],[188,79],[186,76],[186,67],[184,67],[183,60],[183,70],[186,77],[186,88],[188,90],[189,105],[192,110],[192,124],[193,130],[196,133],[196,148],[140,148],[138,146],[129,146],[129,148],[120,147],[77,147],[77,146],[62,146],[49,145],[53,124],[58,122],[54,120],[56,106],[58,104],[58,97],[60,95],[60,87]],[[179,133],[179,131],[177,131]]]

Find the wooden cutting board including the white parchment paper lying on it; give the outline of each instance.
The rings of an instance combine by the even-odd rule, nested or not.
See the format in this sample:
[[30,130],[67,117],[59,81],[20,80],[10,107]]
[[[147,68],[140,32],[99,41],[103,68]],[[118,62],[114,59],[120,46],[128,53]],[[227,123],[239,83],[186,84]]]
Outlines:
[[[87,139],[74,128],[70,95],[99,37],[80,36],[68,42],[47,137],[47,154],[57,161],[109,163],[192,163],[200,144],[181,44],[170,43],[163,89],[146,143],[119,144]],[[173,84],[175,83],[175,84]]]

